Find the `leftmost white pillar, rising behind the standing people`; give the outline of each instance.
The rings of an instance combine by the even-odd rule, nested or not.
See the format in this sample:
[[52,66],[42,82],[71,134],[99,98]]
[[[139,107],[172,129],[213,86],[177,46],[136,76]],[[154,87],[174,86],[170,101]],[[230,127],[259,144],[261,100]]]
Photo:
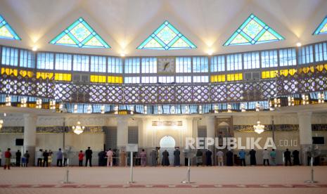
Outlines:
[[[37,116],[31,114],[24,115],[24,153],[30,153],[29,164],[35,162],[35,145],[37,143]],[[23,153],[23,154],[24,154]]]

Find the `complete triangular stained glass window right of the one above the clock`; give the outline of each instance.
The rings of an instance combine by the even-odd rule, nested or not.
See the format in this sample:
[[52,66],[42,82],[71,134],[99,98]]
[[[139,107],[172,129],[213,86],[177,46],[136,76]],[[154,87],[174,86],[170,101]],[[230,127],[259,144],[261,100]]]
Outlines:
[[255,15],[251,14],[249,18],[238,27],[238,30],[231,35],[224,46],[260,44],[283,39],[284,37],[262,22],[262,20],[259,20]]

